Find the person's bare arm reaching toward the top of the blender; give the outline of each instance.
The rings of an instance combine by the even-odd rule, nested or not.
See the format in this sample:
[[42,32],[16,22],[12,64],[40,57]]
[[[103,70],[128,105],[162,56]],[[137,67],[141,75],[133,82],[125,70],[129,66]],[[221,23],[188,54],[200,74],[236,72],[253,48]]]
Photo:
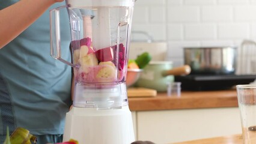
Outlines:
[[63,0],[20,0],[0,10],[0,49],[31,25],[50,5]]

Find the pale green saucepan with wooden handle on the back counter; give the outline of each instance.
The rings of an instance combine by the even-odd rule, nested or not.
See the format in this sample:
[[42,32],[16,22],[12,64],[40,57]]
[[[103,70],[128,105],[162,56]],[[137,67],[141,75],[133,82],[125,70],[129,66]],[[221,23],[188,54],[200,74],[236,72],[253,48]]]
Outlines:
[[172,68],[171,61],[151,61],[142,71],[136,86],[156,89],[164,92],[169,82],[174,82],[174,76],[190,73],[189,65]]

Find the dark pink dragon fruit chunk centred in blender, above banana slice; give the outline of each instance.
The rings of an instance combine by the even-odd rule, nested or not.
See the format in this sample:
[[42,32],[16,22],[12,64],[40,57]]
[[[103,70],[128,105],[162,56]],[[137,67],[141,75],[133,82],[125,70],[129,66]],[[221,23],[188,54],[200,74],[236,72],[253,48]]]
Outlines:
[[114,53],[112,47],[106,47],[99,49],[96,52],[97,59],[100,62],[112,61],[114,58]]

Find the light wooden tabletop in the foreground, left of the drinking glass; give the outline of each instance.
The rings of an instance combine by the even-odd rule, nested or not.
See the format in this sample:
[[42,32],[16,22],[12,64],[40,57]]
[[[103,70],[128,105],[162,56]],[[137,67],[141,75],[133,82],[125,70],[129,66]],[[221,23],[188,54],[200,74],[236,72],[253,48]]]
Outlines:
[[242,144],[242,134],[236,134],[232,136],[213,137],[209,139],[192,140],[187,142],[180,142],[174,144]]

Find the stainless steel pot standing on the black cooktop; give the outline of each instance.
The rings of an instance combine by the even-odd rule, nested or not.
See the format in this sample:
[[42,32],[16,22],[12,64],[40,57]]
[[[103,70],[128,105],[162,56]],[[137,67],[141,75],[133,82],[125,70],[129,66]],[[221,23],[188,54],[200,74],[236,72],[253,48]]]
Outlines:
[[234,74],[236,47],[185,47],[184,64],[191,74]]

